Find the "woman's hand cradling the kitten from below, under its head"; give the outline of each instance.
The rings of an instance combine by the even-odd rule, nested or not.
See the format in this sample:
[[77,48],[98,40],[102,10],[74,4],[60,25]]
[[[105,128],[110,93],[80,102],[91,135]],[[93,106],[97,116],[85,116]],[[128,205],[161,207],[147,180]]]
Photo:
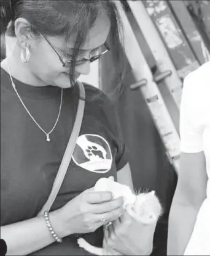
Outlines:
[[[104,240],[108,247],[122,255],[150,255],[156,222],[145,225],[134,220],[126,211],[112,221],[104,231]],[[115,254],[119,255],[119,254]]]

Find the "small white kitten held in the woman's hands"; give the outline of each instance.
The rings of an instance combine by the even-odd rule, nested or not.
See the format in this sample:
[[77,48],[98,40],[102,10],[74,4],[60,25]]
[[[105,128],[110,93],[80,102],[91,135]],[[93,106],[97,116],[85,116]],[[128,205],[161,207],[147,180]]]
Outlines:
[[[114,181],[114,177],[101,178],[95,184],[95,191],[111,191],[114,198],[123,196],[125,200],[125,210],[134,220],[149,225],[158,221],[162,213],[162,207],[155,191],[133,194],[131,189],[123,184]],[[91,254],[107,254],[106,248],[91,246],[83,238],[77,240],[80,247],[84,248]]]

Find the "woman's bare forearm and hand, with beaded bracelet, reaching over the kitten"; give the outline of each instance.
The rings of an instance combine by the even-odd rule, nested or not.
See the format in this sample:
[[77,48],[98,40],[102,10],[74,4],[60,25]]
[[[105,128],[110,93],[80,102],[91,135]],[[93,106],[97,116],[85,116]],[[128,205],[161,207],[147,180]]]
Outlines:
[[[50,222],[58,236],[90,233],[98,229],[101,212],[107,220],[116,220],[122,213],[122,197],[112,200],[106,191],[86,189],[60,209],[50,212]],[[28,255],[54,242],[44,217],[36,217],[1,227],[1,237],[7,243],[7,255]]]

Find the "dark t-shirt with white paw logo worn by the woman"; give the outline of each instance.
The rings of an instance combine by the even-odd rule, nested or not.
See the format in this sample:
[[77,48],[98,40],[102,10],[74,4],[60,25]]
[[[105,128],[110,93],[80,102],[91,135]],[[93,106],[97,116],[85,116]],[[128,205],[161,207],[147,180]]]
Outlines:
[[[27,109],[45,131],[58,116],[61,88],[37,88],[14,79]],[[85,86],[87,100],[76,149],[52,205],[56,210],[95,185],[101,177],[117,176],[127,160],[114,105],[99,89]],[[1,68],[1,226],[36,217],[47,200],[60,167],[76,117],[79,88],[63,89],[61,114],[50,142],[24,109]],[[33,232],[33,230],[31,230]],[[88,255],[77,246],[77,235],[65,237],[34,255]],[[101,246],[103,230],[81,235]]]

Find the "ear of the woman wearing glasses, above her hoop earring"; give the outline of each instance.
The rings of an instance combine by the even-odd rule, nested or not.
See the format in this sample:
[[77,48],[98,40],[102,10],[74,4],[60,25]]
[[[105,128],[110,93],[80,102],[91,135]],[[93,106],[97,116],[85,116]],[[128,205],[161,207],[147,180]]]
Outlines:
[[20,47],[24,48],[31,41],[31,24],[24,18],[15,20],[15,36]]

